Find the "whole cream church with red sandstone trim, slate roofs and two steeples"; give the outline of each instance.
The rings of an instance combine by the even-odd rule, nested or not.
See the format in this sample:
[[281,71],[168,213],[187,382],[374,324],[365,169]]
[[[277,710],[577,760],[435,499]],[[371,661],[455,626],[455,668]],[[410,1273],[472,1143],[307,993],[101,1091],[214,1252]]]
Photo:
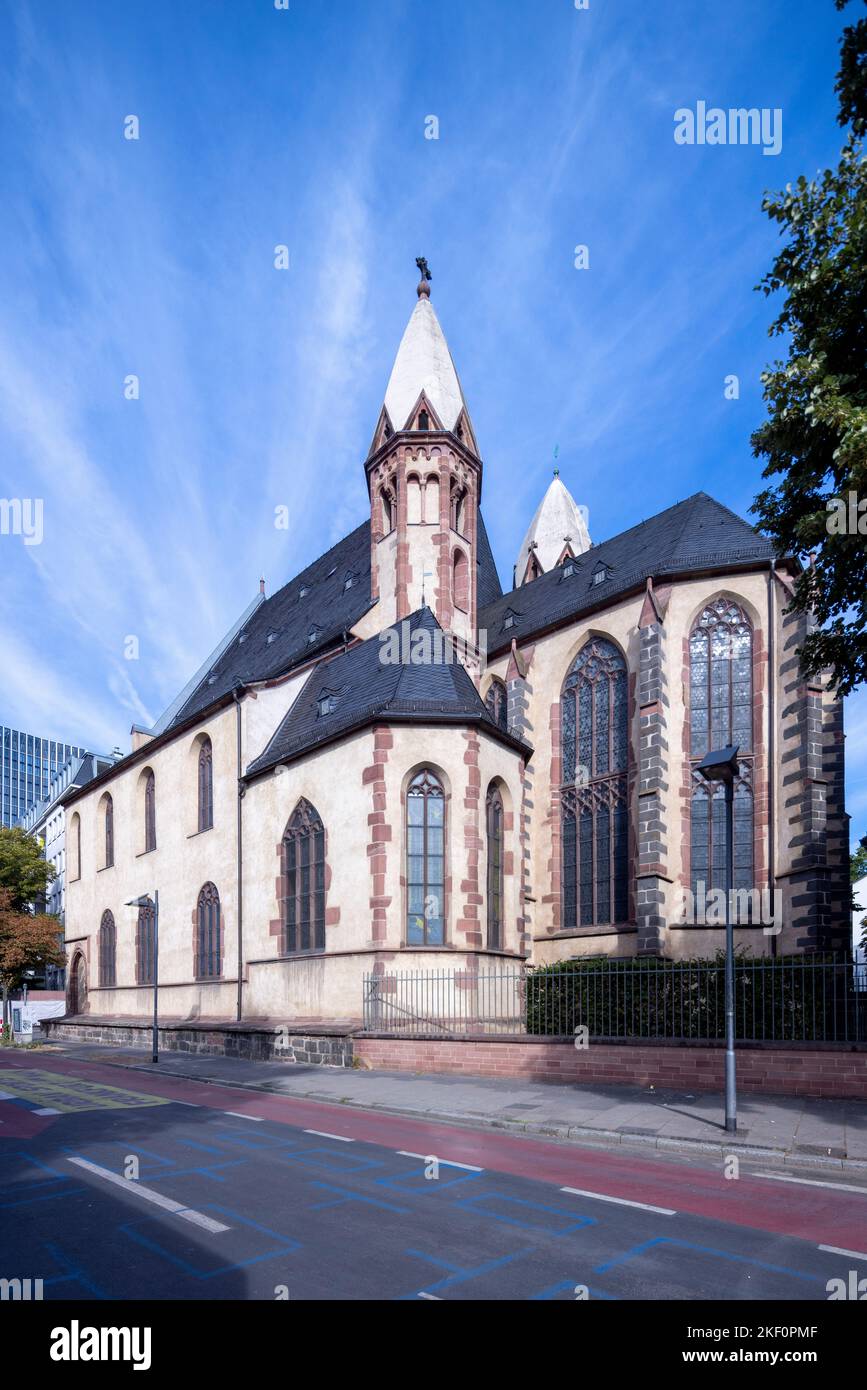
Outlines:
[[[365,973],[713,955],[684,890],[777,905],[750,954],[845,949],[842,702],[804,680],[796,562],[704,493],[607,541],[559,477],[503,591],[422,278],[370,517],[263,592],[132,751],[65,798],[68,1008],[352,1019]],[[496,478],[493,480],[496,486]],[[713,919],[710,919],[713,920]]]

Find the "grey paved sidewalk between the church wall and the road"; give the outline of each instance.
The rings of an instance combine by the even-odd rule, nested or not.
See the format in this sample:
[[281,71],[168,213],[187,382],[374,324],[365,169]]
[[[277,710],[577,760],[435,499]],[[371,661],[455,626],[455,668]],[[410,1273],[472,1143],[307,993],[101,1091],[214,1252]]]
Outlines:
[[867,1101],[739,1097],[738,1134],[722,1130],[722,1095],[649,1091],[628,1086],[556,1086],[464,1076],[417,1076],[226,1056],[50,1042],[74,1061],[156,1070],[368,1111],[413,1115],[581,1144],[679,1152],[731,1154],[777,1162],[867,1172]]

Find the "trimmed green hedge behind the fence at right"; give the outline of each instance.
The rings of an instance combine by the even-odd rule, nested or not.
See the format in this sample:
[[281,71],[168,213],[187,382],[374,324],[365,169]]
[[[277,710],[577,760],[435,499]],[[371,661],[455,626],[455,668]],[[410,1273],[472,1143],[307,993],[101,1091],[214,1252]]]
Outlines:
[[[864,1036],[867,998],[852,988],[852,966],[834,956],[764,956],[735,962],[735,1036],[767,1041],[854,1040]],[[527,1031],[564,1037],[722,1038],[725,956],[539,966],[527,979]]]

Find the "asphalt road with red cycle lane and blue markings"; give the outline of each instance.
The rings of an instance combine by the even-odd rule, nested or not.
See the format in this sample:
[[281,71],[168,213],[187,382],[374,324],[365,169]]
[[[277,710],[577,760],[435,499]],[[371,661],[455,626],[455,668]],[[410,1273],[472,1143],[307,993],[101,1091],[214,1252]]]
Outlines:
[[867,1277],[850,1175],[742,1161],[728,1179],[703,1158],[0,1058],[0,1277],[42,1279],[46,1300],[824,1302],[850,1270]]

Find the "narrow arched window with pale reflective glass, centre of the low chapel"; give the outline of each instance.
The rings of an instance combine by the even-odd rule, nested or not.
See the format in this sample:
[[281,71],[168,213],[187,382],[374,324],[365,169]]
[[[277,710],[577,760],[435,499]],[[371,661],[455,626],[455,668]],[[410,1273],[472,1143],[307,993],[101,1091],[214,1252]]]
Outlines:
[[442,947],[446,927],[446,795],[425,767],[407,788],[407,945]]

